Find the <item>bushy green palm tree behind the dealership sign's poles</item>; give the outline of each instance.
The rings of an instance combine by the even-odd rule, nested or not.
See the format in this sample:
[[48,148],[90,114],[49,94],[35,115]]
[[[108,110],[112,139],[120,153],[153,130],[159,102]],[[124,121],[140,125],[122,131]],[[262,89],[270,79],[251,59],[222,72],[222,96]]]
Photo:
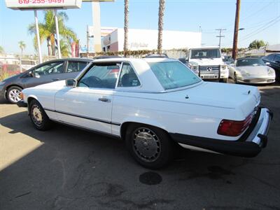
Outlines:
[[[57,14],[58,26],[59,26],[59,34],[62,38],[65,38],[67,42],[70,43],[71,40],[76,41],[76,34],[70,29],[66,27],[64,24],[65,21],[68,20],[68,16],[64,12],[59,12]],[[36,26],[35,24],[31,24],[28,27],[28,31],[30,34],[36,34]],[[46,40],[48,45],[48,55],[55,56],[55,13],[52,10],[45,11],[44,21],[43,23],[39,23],[39,34],[41,43]],[[34,38],[34,46],[37,45],[36,38]]]

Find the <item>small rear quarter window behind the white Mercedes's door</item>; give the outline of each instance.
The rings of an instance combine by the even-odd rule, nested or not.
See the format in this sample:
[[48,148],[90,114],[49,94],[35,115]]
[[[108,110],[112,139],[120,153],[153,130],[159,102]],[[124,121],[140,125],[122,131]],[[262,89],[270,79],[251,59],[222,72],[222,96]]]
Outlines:
[[118,87],[136,87],[140,85],[137,74],[129,63],[123,63],[123,69],[120,72]]

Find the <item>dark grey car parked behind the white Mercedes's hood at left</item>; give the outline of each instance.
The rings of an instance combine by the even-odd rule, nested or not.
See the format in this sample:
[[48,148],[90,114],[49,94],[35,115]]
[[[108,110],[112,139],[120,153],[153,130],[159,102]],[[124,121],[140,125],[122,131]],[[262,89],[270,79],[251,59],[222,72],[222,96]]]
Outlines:
[[20,92],[27,87],[34,87],[56,80],[76,77],[92,59],[69,58],[55,59],[34,66],[23,73],[6,78],[0,82],[0,97],[12,104],[20,101]]

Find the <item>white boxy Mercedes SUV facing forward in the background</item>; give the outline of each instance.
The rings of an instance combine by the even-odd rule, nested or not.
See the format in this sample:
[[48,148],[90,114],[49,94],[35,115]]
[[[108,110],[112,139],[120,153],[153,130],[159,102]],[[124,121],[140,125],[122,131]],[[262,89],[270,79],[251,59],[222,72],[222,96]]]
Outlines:
[[188,49],[188,65],[204,80],[228,83],[228,65],[223,62],[221,48],[199,47]]

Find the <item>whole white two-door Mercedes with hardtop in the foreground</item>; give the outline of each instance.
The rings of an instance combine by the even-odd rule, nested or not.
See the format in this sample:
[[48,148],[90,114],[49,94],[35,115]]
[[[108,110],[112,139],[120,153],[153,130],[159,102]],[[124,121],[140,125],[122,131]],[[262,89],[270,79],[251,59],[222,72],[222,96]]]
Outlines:
[[52,121],[125,139],[144,167],[172,148],[253,157],[267,145],[272,112],[257,87],[207,83],[176,59],[94,59],[76,78],[22,91],[34,127]]

